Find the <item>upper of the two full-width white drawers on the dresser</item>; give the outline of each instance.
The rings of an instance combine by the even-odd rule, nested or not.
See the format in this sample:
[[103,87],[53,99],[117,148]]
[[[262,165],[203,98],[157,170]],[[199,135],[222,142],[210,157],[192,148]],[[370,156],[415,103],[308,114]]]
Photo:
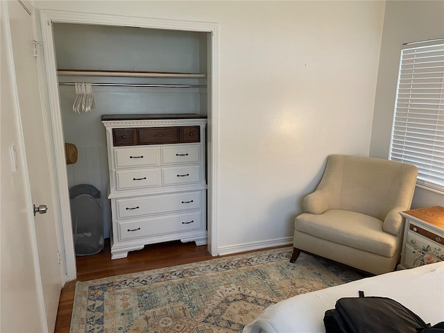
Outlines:
[[201,191],[118,199],[117,219],[128,219],[148,214],[197,210],[202,208]]

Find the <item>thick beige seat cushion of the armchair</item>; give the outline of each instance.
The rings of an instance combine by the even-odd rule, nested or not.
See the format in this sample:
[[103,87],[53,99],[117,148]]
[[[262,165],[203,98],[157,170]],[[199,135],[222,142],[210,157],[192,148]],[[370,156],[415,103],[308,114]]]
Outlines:
[[295,229],[311,236],[376,253],[384,257],[395,255],[398,241],[382,230],[382,221],[347,210],[328,210],[323,214],[301,214]]

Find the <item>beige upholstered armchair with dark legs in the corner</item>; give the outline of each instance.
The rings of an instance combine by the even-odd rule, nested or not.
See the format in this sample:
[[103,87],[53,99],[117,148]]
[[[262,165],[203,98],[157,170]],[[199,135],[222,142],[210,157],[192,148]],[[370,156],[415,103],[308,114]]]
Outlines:
[[331,155],[296,217],[293,256],[313,253],[373,274],[395,269],[418,170],[373,157]]

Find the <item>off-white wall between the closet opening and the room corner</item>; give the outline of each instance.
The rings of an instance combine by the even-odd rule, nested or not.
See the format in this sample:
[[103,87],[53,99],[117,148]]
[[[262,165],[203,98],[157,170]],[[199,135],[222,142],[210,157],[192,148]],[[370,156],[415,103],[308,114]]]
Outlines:
[[37,1],[219,23],[219,249],[291,241],[332,153],[368,155],[383,1]]

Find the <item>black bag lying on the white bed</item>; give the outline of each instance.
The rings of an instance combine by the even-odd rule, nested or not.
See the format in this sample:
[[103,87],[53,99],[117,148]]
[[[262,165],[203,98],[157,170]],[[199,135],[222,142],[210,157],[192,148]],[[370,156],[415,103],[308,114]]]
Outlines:
[[404,305],[385,297],[341,298],[325,311],[327,333],[444,333],[444,322],[426,324]]

